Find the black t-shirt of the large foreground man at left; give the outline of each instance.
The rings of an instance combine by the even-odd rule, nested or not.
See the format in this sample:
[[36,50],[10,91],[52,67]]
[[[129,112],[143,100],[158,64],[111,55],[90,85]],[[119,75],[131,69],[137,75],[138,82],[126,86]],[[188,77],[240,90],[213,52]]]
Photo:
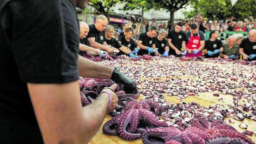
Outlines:
[[0,143],[43,143],[26,83],[79,79],[77,14],[71,0],[5,0],[0,14]]

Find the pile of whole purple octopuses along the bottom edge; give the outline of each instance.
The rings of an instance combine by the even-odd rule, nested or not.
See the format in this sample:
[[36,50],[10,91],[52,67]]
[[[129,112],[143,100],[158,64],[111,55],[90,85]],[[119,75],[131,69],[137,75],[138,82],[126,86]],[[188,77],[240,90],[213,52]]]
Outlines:
[[103,132],[126,140],[142,138],[144,144],[253,144],[250,138],[224,121],[209,122],[200,114],[193,116],[185,130],[168,127],[157,117],[167,109],[168,106],[151,99],[129,101],[118,116],[104,124]]

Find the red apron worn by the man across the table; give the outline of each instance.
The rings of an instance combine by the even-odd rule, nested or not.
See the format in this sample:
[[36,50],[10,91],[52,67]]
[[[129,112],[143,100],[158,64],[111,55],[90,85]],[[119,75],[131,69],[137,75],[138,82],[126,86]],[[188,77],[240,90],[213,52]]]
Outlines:
[[[199,33],[198,33],[198,36],[191,35],[189,38],[189,42],[186,44],[186,47],[188,49],[198,49],[200,47],[200,39],[201,39],[201,37],[200,37]],[[192,51],[191,54],[187,53],[185,56],[186,57],[202,56],[202,51],[199,51],[197,54],[193,54],[193,51]]]

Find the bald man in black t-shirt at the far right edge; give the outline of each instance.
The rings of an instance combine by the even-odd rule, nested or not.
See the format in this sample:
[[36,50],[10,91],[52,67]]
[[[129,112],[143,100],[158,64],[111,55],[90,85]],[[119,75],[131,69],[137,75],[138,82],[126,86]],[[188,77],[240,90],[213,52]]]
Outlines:
[[251,30],[249,38],[243,39],[239,47],[239,53],[243,56],[244,60],[256,60],[256,30]]

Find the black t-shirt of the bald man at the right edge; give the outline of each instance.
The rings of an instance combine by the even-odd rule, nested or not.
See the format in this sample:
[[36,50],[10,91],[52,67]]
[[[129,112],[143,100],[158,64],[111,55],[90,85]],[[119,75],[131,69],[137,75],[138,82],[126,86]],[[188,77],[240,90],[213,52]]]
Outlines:
[[[250,42],[249,38],[243,39],[240,44],[240,48],[243,48],[243,52],[250,56],[251,54],[256,54],[256,42]],[[250,61],[255,61],[256,58],[249,59]]]

